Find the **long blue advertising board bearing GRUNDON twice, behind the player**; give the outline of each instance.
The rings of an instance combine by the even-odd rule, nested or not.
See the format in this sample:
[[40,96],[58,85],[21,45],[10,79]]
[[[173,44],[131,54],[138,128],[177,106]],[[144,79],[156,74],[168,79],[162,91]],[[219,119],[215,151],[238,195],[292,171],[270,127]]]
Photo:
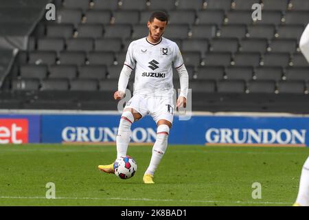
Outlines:
[[[42,115],[42,142],[115,142],[120,115]],[[170,144],[309,146],[309,118],[253,116],[174,117]],[[131,142],[155,142],[150,116],[133,123]]]

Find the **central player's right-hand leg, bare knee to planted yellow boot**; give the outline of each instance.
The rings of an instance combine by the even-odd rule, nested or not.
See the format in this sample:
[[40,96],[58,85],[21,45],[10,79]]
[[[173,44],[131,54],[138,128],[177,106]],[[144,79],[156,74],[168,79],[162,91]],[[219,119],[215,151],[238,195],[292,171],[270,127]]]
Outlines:
[[157,124],[157,140],[152,148],[150,164],[143,177],[145,184],[155,184],[153,181],[155,170],[157,170],[166,148],[168,147],[168,135],[172,124],[167,120],[159,120]]

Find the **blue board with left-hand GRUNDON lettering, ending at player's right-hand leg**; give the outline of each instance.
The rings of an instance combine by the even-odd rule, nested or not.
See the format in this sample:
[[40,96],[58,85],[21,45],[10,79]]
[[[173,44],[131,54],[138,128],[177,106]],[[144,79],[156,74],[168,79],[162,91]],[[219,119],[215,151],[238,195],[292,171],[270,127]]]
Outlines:
[[[42,142],[115,142],[120,115],[42,115]],[[132,142],[154,142],[155,122],[133,123]]]

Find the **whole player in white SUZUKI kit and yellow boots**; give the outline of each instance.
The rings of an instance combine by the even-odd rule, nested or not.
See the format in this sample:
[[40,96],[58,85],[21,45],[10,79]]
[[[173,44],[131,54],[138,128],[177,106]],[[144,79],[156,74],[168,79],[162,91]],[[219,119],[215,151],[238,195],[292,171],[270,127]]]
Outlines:
[[[168,146],[168,135],[174,116],[174,87],[172,68],[179,73],[181,94],[176,108],[186,107],[189,85],[187,69],[178,45],[162,35],[168,25],[165,12],[153,12],[147,23],[148,36],[130,43],[126,61],[119,76],[115,100],[124,98],[124,92],[133,69],[135,85],[133,97],[126,103],[116,137],[117,158],[125,156],[130,142],[130,127],[133,122],[151,115],[157,124],[157,138],[152,148],[150,164],[144,173],[145,184],[154,184],[155,170]],[[114,173],[113,164],[99,165],[105,173]]]

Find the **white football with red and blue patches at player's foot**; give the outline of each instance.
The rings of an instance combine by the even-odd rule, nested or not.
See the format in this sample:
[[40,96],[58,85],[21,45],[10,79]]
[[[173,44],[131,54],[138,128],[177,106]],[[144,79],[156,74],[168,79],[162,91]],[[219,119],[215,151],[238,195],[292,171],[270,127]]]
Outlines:
[[121,179],[129,179],[133,177],[137,171],[137,163],[135,160],[126,155],[118,157],[114,162],[115,175]]

